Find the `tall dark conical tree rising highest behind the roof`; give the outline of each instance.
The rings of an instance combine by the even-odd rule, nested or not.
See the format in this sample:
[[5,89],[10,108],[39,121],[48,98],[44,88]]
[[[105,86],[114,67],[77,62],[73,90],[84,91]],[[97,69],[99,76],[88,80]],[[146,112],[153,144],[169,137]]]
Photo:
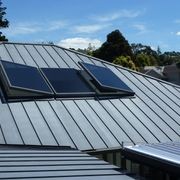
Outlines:
[[102,46],[93,51],[93,56],[112,62],[119,56],[133,57],[131,46],[119,30],[112,31],[107,35],[107,40]]

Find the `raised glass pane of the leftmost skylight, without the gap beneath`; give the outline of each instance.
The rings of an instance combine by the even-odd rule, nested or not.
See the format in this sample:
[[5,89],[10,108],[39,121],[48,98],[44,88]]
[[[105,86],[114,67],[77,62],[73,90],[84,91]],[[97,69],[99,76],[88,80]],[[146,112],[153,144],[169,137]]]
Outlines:
[[52,94],[37,68],[7,61],[1,61],[1,65],[9,88]]

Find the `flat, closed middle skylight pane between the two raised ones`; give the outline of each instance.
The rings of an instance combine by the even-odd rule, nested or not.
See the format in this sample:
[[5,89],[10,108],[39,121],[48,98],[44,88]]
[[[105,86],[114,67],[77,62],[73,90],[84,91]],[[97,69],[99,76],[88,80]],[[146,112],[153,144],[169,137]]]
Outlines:
[[95,92],[89,87],[75,69],[41,68],[49,83],[58,95],[90,95]]

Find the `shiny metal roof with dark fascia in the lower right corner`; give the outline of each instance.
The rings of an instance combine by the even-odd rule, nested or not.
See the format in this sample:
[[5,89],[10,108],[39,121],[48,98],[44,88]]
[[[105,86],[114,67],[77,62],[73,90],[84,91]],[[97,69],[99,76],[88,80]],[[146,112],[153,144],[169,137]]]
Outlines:
[[180,142],[135,145],[124,148],[127,158],[180,174]]

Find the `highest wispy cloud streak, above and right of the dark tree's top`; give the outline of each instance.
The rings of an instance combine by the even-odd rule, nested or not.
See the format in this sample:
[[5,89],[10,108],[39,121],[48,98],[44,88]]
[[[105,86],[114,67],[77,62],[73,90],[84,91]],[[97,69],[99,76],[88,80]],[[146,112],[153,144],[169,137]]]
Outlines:
[[93,19],[100,22],[108,22],[113,21],[119,18],[135,18],[140,15],[140,11],[130,11],[130,10],[121,10],[119,12],[102,15],[102,16],[94,16]]

